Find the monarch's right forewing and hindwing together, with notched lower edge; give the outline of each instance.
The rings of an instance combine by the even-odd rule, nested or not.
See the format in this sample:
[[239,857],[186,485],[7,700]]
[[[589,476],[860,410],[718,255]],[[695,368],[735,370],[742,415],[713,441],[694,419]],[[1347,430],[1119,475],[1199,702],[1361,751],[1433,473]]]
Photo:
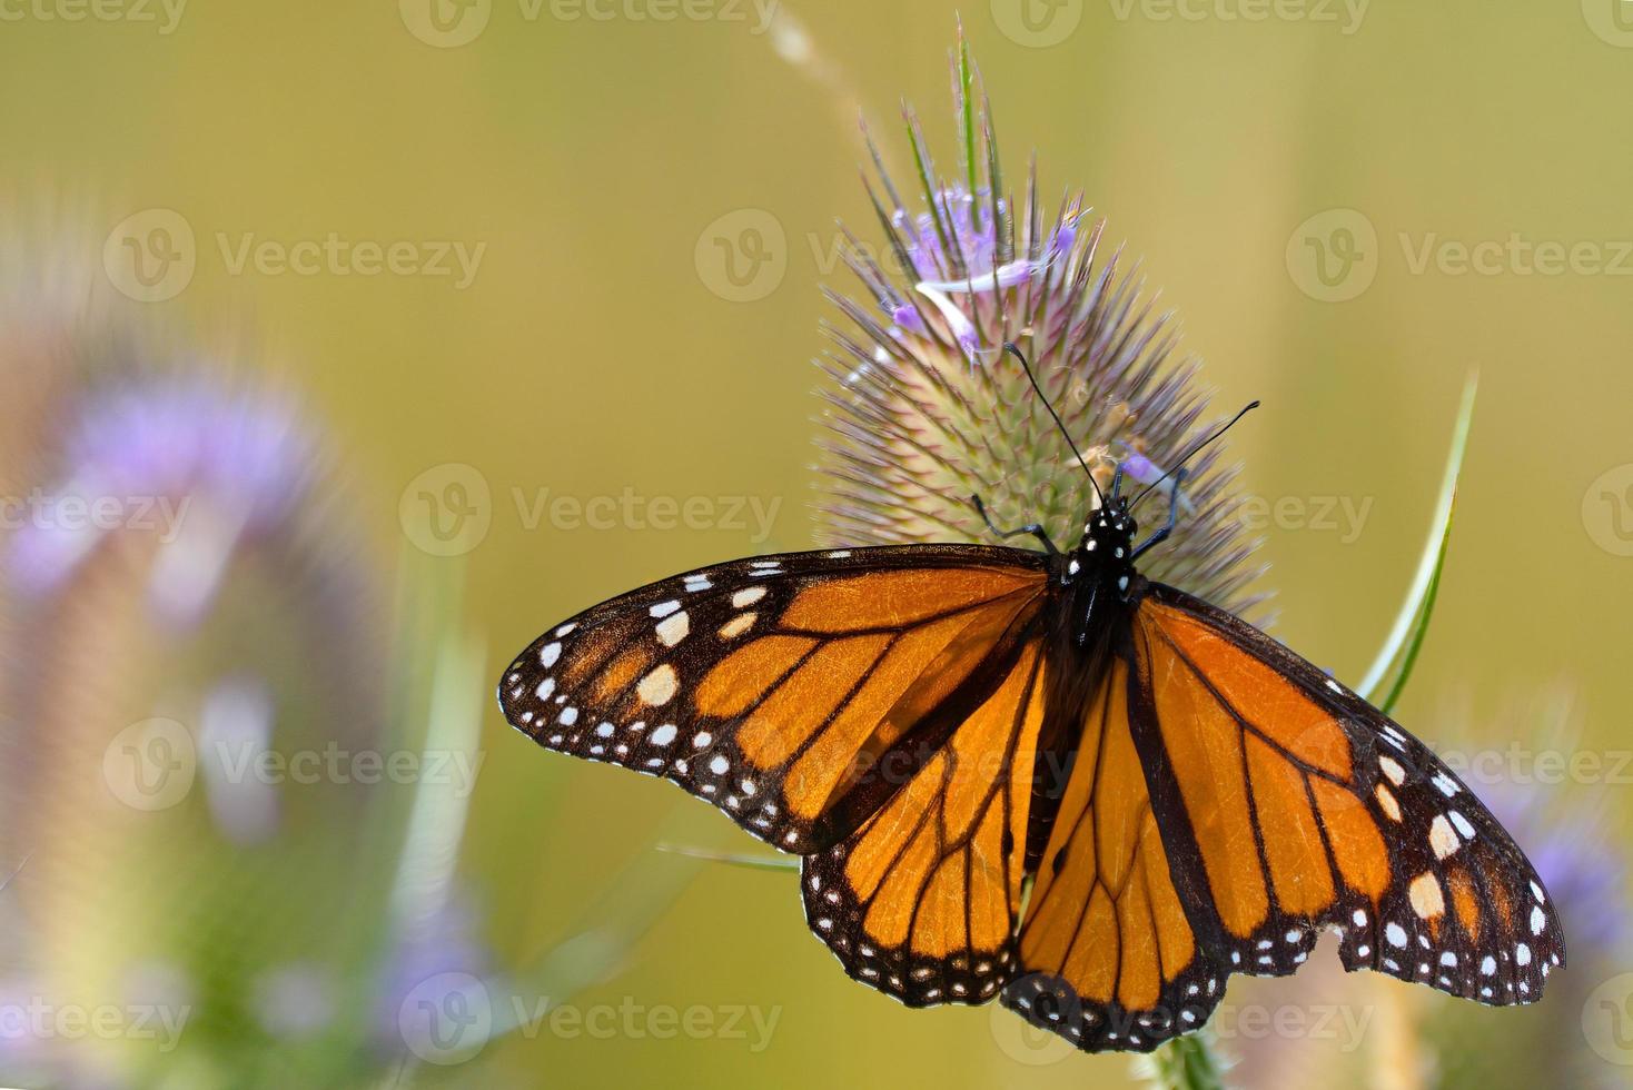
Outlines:
[[[1089,1051],[1150,1049],[1197,1028],[1228,973],[1292,973],[1326,928],[1350,971],[1540,999],[1564,963],[1560,922],[1473,793],[1251,625],[1141,592],[1084,734],[1102,755],[1073,770],[1004,1002]],[[1166,875],[1137,865],[1151,831]]]

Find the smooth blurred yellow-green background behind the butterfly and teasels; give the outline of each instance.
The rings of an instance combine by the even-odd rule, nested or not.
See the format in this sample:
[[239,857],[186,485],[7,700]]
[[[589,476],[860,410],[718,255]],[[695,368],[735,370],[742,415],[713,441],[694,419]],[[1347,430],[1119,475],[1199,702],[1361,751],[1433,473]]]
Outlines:
[[[910,176],[895,121],[905,96],[952,162],[947,51],[959,10],[436,3],[0,3],[0,258],[18,292],[7,308],[13,348],[49,310],[20,289],[38,281],[64,313],[113,310],[116,325],[160,330],[160,343],[185,331],[186,354],[232,361],[234,382],[292,393],[322,434],[327,501],[312,532],[333,537],[317,552],[345,553],[335,560],[380,589],[380,602],[359,607],[376,620],[358,630],[379,638],[387,702],[429,687],[420,664],[439,653],[405,658],[413,648],[457,633],[459,648],[441,654],[477,656],[475,697],[456,703],[485,764],[456,884],[487,968],[544,958],[549,973],[585,979],[573,999],[583,1010],[745,1012],[745,1036],[601,1039],[539,1026],[457,1066],[380,1048],[367,1070],[314,1079],[1045,1087],[1130,1077],[1125,1057],[1017,1044],[1006,1012],[908,1012],[846,981],[807,935],[789,875],[727,865],[692,875],[653,850],[660,840],[754,850],[730,822],[670,788],[537,751],[487,693],[516,649],[581,607],[714,560],[808,543],[818,403],[807,361],[823,346],[818,321],[836,317],[818,287],[852,290],[834,217],[879,241],[857,183],[856,114]],[[1604,770],[1551,783],[1520,755],[1504,775],[1522,795],[1600,808],[1620,844],[1633,782],[1610,772],[1633,746],[1633,121],[1623,109],[1633,5],[1024,3],[962,8],[1009,171],[1019,178],[1037,148],[1045,194],[1081,188],[1109,217],[1107,241],[1127,240],[1143,258],[1163,305],[1182,317],[1186,348],[1208,361],[1217,408],[1266,401],[1233,454],[1251,493],[1287,501],[1257,527],[1277,635],[1341,677],[1365,667],[1417,561],[1458,393],[1478,369],[1442,599],[1398,718],[1432,744],[1506,752],[1517,739],[1546,744],[1533,726],[1555,711],[1538,703],[1568,705],[1553,744],[1597,754]],[[109,276],[109,237],[119,253],[119,238],[142,243],[155,225],[178,245],[191,233],[191,276]],[[309,272],[279,264],[279,248],[331,235],[349,256],[314,251]],[[256,251],[263,243],[273,250]],[[382,253],[407,243],[398,271],[361,274],[358,243]],[[1458,246],[1478,248],[1476,268]],[[150,302],[132,302],[144,294]],[[20,419],[7,424],[7,449],[24,444]],[[624,496],[642,504],[637,514],[621,506],[599,525],[550,506]],[[653,525],[665,503],[687,499],[699,499],[694,525]],[[1364,514],[1346,517],[1346,503]],[[438,537],[447,527],[459,532]],[[431,599],[415,614],[420,643],[402,635],[407,607],[390,605],[400,583]],[[237,623],[258,615],[245,607]],[[325,643],[341,641],[331,625],[300,631],[283,654],[351,654]],[[433,731],[434,702],[416,705]],[[13,764],[33,746],[31,707],[8,708]],[[122,721],[147,715],[131,708]],[[91,738],[100,760],[106,738]],[[392,806],[408,822],[413,800]],[[29,862],[0,896],[36,925],[78,920],[83,932],[52,940],[78,961],[118,956],[119,920],[131,919],[119,899],[145,880],[116,866],[122,852],[85,853],[83,837],[108,827],[70,837],[49,808],[10,813],[10,866]],[[232,853],[189,835],[202,839],[152,850],[185,850],[194,863]],[[380,837],[389,852],[353,845],[358,855],[338,860],[318,839],[314,870],[297,860],[279,871],[279,881],[325,875],[345,891],[333,911],[361,914],[314,950],[364,961],[379,940],[361,889],[384,888],[402,840]],[[1597,863],[1620,883],[1622,858]],[[167,889],[196,901],[185,883]],[[69,911],[56,896],[98,909]],[[562,953],[563,938],[621,912],[634,914],[627,950]],[[8,956],[23,964],[29,953]],[[1525,1012],[1450,1015],[1458,1039],[1501,1039],[1527,1020],[1550,1026],[1558,1052],[1520,1056],[1486,1072],[1486,1085],[1528,1085],[1566,1054],[1612,1085],[1633,1070],[1618,1020],[1633,984],[1615,986],[1633,963],[1571,955],[1571,973],[1594,976],[1571,982],[1568,1008],[1548,1010],[1550,997]],[[363,971],[340,979],[348,973]],[[1355,1039],[1270,1033],[1295,1057],[1277,1062],[1373,1085],[1386,1085],[1390,1064],[1421,1064],[1426,1085],[1471,1082],[1478,1064],[1465,1070],[1432,1044],[1401,1059],[1375,1039],[1390,1017],[1411,1025],[1442,1007],[1414,999],[1401,1015],[1380,999],[1401,990],[1328,974],[1297,990],[1238,982],[1233,1000],[1377,1015]],[[335,1021],[348,995],[330,989]],[[756,1012],[776,1018],[764,1039]],[[247,1017],[219,1033],[214,1059],[191,1067],[144,1059],[126,1070],[129,1043],[114,1043],[67,1074],[46,1062],[8,1077],[220,1085],[235,1035],[269,1031]],[[1221,1035],[1225,1051],[1267,1046],[1239,1026]],[[188,1046],[183,1033],[176,1054]],[[243,1080],[279,1079],[276,1067],[256,1070]],[[1264,1085],[1297,1085],[1279,1070]]]

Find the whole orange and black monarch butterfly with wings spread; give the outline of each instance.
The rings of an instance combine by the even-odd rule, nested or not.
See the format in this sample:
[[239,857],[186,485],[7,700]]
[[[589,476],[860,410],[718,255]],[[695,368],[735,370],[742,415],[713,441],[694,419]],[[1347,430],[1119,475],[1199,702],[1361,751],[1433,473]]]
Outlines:
[[1564,963],[1555,907],[1463,782],[1138,573],[1176,524],[1171,473],[1138,543],[1155,485],[1130,499],[1119,467],[1071,552],[972,498],[1042,552],[880,545],[653,583],[536,640],[500,705],[547,749],[673,780],[802,855],[812,930],[910,1007],[996,994],[1084,1051],[1150,1051],[1323,930],[1349,971],[1538,999]]

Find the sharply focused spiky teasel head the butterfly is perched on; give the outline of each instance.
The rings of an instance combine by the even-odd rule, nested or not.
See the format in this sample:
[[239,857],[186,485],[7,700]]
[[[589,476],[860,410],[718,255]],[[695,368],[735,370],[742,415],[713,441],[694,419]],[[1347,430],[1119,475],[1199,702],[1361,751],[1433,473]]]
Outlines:
[[[968,51],[954,57],[962,175],[942,178],[918,117],[905,109],[916,207],[867,139],[869,197],[885,232],[872,256],[849,232],[846,263],[869,302],[831,292],[851,328],[830,330],[818,361],[831,383],[818,534],[823,543],[991,542],[972,509],[980,494],[1001,525],[1042,522],[1075,545],[1094,491],[1021,366],[1016,343],[1083,449],[1101,488],[1120,462],[1151,483],[1212,423],[1195,357],[1174,361],[1177,333],[1138,266],[1101,256],[1102,220],[1079,196],[1045,220],[1032,165],[1024,199],[1006,191],[991,108]],[[1017,214],[1019,212],[1019,214]],[[1184,517],[1151,556],[1153,578],[1223,607],[1253,604],[1254,542],[1233,517],[1235,468],[1215,445],[1195,459]],[[1140,516],[1155,525],[1159,498]]]

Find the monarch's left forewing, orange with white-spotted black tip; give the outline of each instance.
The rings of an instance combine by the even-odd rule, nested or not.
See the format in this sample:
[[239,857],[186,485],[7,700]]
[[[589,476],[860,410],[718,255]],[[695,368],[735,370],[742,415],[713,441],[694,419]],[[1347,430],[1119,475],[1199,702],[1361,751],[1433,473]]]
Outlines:
[[670,778],[818,852],[1001,684],[1043,584],[1040,558],[981,545],[715,565],[539,636],[500,703],[547,749]]

